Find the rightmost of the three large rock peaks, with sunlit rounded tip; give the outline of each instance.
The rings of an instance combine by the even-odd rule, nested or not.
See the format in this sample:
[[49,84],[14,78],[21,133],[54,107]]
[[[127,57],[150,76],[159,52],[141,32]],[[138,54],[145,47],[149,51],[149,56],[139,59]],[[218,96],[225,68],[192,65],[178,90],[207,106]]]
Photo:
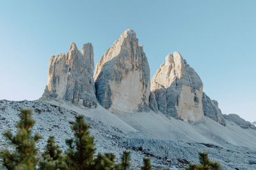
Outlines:
[[151,81],[158,109],[184,121],[204,118],[203,83],[198,74],[183,60],[179,52],[167,55]]

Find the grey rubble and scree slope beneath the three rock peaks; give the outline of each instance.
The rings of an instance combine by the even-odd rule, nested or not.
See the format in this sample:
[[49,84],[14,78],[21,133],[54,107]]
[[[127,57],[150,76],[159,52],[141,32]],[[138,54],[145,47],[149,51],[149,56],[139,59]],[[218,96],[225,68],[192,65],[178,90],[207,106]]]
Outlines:
[[[218,160],[223,166],[223,169],[256,169],[256,146],[253,148],[253,145],[250,145],[250,141],[255,143],[253,134],[256,136],[256,132],[253,132],[252,129],[241,129],[236,125],[232,125],[232,123],[228,123],[227,127],[223,128],[235,129],[237,136],[240,135],[239,133],[242,135],[242,132],[243,135],[246,134],[246,136],[243,136],[244,146],[243,143],[241,143],[241,145],[235,145],[236,143],[232,142],[232,139],[237,141],[235,137],[231,136],[230,141],[227,141],[221,134],[218,136],[216,133],[209,134],[206,130],[202,130],[209,128],[209,126],[206,128],[205,124],[207,123],[207,125],[209,125],[211,122],[189,124],[180,120],[170,120],[177,129],[183,128],[182,131],[193,127],[200,129],[200,134],[203,134],[204,131],[205,136],[207,136],[206,133],[208,133],[214,139],[219,138],[216,139],[216,141],[220,141],[217,144],[214,141],[211,143],[204,142],[203,138],[201,139],[199,137],[196,137],[198,138],[196,141],[196,138],[192,139],[189,135],[186,135],[186,133],[182,134],[182,132],[176,131],[174,127],[172,129],[166,129],[166,132],[163,131],[163,135],[157,136],[154,133],[156,133],[161,125],[156,127],[152,124],[151,128],[154,129],[154,131],[147,131],[145,126],[143,127],[145,122],[143,123],[142,120],[140,120],[138,114],[134,116],[134,120],[136,119],[141,122],[141,126],[136,125],[136,121],[132,119],[129,120],[124,115],[115,115],[100,107],[88,110],[54,101],[2,100],[0,101],[1,133],[6,129],[12,129],[13,132],[15,131],[15,124],[19,120],[21,108],[31,108],[31,110],[33,110],[33,118],[36,120],[33,131],[39,132],[44,137],[38,143],[40,150],[44,148],[45,141],[50,135],[55,136],[58,145],[65,150],[65,139],[72,138],[70,124],[77,114],[83,114],[86,116],[86,122],[91,126],[90,131],[95,137],[97,152],[113,152],[119,159],[123,150],[131,150],[132,166],[135,169],[138,169],[142,164],[143,157],[150,157],[152,165],[157,169],[163,167],[183,168],[188,166],[189,162],[197,162],[197,153],[202,151],[208,152],[212,160]],[[150,114],[154,113],[147,114],[148,118],[150,118]],[[154,116],[157,117],[157,121],[163,122],[165,120],[161,120],[161,115],[156,114]],[[129,117],[133,117],[133,115]],[[147,118],[145,118],[144,121],[147,122]],[[164,124],[163,122],[163,125]],[[230,127],[228,127],[228,125],[230,125]],[[216,127],[216,129],[218,128],[219,127]],[[168,134],[168,131],[170,131],[170,134]],[[177,134],[175,134],[174,131],[176,131]],[[165,138],[164,134],[166,136]],[[179,136],[179,138],[175,138],[175,136]],[[198,134],[191,136],[198,136]],[[3,136],[0,135],[0,149],[6,147],[9,147],[9,145]]]

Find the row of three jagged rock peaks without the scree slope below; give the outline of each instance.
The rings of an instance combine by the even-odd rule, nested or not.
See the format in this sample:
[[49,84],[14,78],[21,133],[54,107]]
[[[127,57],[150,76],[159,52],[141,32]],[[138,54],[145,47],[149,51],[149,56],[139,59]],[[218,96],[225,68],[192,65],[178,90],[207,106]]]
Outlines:
[[[68,52],[52,56],[43,99],[61,99],[93,108],[97,103],[115,113],[163,112],[168,117],[200,121],[204,116],[226,125],[218,103],[203,93],[200,76],[179,52],[168,53],[150,83],[150,68],[136,32],[126,29],[97,62],[93,46],[81,52],[72,42]],[[94,82],[95,81],[95,82]]]

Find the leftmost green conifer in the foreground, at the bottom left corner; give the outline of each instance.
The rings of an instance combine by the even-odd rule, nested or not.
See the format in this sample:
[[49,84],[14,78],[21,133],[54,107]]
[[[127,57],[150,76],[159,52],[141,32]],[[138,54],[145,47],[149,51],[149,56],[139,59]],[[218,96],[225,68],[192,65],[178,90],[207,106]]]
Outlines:
[[31,127],[34,124],[35,121],[31,117],[31,110],[21,110],[15,136],[10,131],[4,132],[3,135],[15,147],[13,152],[3,150],[1,153],[3,165],[7,169],[35,169],[37,162],[35,143],[41,137],[37,133],[35,136],[31,135]]

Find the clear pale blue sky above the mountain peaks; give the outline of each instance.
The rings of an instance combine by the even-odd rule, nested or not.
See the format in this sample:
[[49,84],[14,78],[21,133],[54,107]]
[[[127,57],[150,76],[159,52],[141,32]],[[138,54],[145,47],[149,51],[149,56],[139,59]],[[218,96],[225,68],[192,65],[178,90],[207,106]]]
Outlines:
[[179,51],[223,113],[256,121],[256,1],[2,1],[0,99],[38,99],[51,55],[91,42],[95,62],[125,29],[144,45],[151,76]]

